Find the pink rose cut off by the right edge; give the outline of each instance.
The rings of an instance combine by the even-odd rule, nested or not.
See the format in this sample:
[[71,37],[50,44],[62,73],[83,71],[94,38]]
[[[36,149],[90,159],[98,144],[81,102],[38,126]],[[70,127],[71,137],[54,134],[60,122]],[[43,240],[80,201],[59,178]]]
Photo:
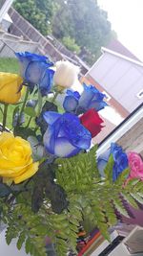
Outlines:
[[143,161],[141,156],[136,152],[128,152],[128,161],[130,167],[129,179],[140,178],[143,180]]

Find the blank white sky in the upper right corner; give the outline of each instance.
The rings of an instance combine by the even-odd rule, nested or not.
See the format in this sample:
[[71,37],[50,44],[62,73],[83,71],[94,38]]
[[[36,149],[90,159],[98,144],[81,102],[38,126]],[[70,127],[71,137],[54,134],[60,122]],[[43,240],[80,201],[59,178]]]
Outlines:
[[143,61],[143,0],[98,0],[119,41]]

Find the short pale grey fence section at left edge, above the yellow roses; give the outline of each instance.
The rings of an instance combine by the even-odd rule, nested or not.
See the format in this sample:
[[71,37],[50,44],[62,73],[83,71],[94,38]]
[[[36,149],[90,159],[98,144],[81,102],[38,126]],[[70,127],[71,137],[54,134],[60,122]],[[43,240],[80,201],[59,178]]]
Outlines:
[[14,58],[14,52],[38,53],[39,44],[0,30],[0,57]]

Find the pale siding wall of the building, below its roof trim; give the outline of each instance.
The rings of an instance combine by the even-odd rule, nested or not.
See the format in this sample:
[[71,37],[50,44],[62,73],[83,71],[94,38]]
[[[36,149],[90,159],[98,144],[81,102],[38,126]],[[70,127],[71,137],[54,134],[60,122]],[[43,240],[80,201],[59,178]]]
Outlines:
[[105,52],[88,74],[129,112],[143,102],[136,96],[143,89],[143,66]]

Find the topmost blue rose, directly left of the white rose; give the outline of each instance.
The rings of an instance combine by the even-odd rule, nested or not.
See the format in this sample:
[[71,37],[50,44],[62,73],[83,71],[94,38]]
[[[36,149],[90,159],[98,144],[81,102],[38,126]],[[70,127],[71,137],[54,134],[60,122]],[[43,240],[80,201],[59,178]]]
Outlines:
[[22,66],[22,76],[31,84],[38,84],[42,96],[51,90],[54,71],[53,63],[45,56],[31,54],[29,52],[16,53]]

